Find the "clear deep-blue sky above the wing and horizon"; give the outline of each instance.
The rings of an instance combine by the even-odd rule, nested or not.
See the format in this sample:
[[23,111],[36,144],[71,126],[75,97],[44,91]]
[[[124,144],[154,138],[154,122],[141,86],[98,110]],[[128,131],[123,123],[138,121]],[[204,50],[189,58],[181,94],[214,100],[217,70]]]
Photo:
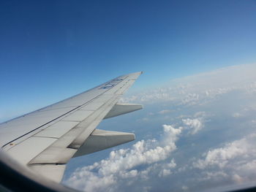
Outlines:
[[129,72],[255,63],[255,21],[256,1],[1,1],[0,121]]

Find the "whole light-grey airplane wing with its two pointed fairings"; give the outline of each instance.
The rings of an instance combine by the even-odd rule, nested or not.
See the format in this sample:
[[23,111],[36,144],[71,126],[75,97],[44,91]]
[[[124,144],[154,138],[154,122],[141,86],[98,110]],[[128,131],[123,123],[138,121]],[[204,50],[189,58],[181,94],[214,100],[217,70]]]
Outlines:
[[99,130],[97,126],[104,118],[142,108],[140,104],[118,104],[141,73],[116,77],[89,91],[1,123],[1,149],[18,164],[29,167],[29,172],[61,182],[70,158],[135,139],[134,134]]

